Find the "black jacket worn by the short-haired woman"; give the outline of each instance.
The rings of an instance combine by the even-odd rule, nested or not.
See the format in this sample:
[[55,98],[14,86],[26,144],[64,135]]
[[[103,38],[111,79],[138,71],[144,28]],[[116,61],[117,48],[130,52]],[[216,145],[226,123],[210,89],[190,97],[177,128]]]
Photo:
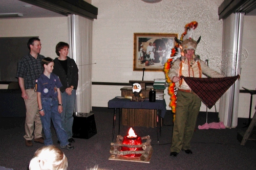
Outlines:
[[67,57],[68,60],[68,70],[67,75],[65,69],[60,64],[58,58],[55,58],[54,61],[54,68],[53,73],[57,75],[60,79],[62,87],[60,87],[61,92],[65,92],[66,88],[70,86],[74,86],[74,89],[77,89],[78,86],[78,68],[73,59]]

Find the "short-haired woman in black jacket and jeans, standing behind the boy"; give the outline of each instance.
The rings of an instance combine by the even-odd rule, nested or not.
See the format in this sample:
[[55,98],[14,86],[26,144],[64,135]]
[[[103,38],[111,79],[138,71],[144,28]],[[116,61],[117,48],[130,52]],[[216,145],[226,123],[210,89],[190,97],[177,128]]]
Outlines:
[[63,111],[61,113],[62,128],[67,132],[69,142],[75,142],[72,138],[72,126],[78,85],[78,68],[75,61],[68,57],[68,43],[59,42],[56,45],[56,54],[59,57],[54,59],[53,73],[59,77],[62,84],[62,87],[60,87],[63,105]]

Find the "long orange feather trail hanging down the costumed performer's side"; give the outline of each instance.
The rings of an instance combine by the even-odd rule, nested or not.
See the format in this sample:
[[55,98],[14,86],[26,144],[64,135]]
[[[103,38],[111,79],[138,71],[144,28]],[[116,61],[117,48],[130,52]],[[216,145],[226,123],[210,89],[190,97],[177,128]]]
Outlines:
[[[172,56],[172,55],[171,55]],[[170,70],[170,68],[172,68],[172,64],[173,64],[173,58],[170,58],[167,60],[167,62],[164,64],[164,74],[165,74],[165,78],[166,78],[166,82],[169,83],[169,87],[168,87],[168,94],[170,95],[170,104],[169,107],[172,108],[172,112],[173,112],[173,122],[175,120],[175,112],[176,112],[176,94],[174,92],[174,88],[175,88],[175,83],[172,82],[172,80],[170,80],[169,76],[168,76],[168,72]]]

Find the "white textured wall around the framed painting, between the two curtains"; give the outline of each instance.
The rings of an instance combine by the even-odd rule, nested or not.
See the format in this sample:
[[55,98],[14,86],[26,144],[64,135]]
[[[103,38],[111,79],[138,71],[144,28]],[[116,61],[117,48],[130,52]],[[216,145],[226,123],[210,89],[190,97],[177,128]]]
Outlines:
[[[222,20],[218,19],[218,7],[222,2],[163,0],[149,4],[140,0],[93,0],[98,19],[93,22],[93,63],[97,64],[93,65],[92,81],[141,80],[142,71],[133,71],[134,33],[178,33],[180,38],[186,23],[193,20],[198,22],[194,37],[201,36],[196,53],[202,60],[209,59],[209,66],[220,72]],[[144,80],[156,78],[164,78],[164,73],[145,72]],[[92,105],[107,107],[110,99],[120,95],[120,88],[93,85]],[[168,105],[168,94],[165,100]]]

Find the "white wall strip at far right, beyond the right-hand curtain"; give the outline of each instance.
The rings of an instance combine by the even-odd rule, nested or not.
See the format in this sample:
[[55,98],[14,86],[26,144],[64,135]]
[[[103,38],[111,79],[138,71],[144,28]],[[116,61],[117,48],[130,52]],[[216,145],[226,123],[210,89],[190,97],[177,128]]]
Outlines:
[[[245,87],[250,90],[255,90],[256,88],[256,16],[246,16],[244,17],[244,28],[243,28],[243,40],[242,40],[242,55],[241,55],[241,79],[240,79],[240,89]],[[238,107],[238,117],[248,117],[250,108],[250,94],[240,93],[239,95],[239,107]],[[252,107],[251,107],[251,117],[255,112],[256,95],[252,95]]]

